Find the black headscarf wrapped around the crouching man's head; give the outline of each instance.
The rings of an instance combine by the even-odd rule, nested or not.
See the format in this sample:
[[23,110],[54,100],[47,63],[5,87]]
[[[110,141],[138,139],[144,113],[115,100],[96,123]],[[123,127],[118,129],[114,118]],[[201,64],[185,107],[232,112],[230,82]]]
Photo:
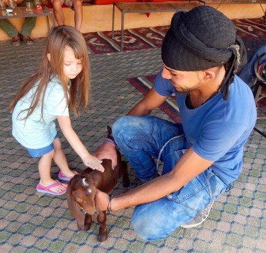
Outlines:
[[227,100],[234,73],[247,58],[234,23],[215,8],[203,5],[173,15],[162,43],[162,61],[179,71],[226,65],[221,93]]

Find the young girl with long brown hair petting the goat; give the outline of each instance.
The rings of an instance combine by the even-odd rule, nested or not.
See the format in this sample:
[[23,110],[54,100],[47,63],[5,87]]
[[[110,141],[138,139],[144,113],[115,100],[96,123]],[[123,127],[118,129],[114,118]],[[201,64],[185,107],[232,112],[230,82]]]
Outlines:
[[69,181],[77,173],[67,165],[56,132],[56,119],[84,165],[104,171],[101,160],[88,153],[69,118],[69,110],[76,116],[79,107],[86,108],[88,91],[88,51],[82,34],[68,25],[51,29],[40,67],[10,104],[13,136],[32,157],[40,157],[40,182],[36,187],[39,192],[52,195],[66,192],[66,184],[51,178],[52,159],[60,168],[60,180]]

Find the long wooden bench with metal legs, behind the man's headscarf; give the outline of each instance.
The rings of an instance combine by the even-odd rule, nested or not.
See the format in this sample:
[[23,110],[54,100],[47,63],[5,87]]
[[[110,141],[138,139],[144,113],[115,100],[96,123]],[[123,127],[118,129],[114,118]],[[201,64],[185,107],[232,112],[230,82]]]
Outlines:
[[204,5],[204,1],[175,1],[175,2],[114,2],[112,5],[112,39],[114,39],[114,8],[121,12],[121,52],[123,51],[124,19],[126,13],[152,13],[189,11]]

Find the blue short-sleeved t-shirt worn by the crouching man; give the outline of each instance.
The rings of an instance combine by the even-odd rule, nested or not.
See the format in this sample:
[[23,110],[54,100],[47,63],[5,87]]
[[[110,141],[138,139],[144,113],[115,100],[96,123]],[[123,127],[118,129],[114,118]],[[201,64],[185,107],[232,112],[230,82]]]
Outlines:
[[156,92],[168,97],[175,93],[187,141],[202,158],[214,161],[211,168],[233,182],[241,173],[243,146],[256,123],[256,106],[250,87],[239,77],[230,85],[228,100],[221,93],[195,109],[186,107],[186,94],[176,91],[162,78],[154,82]]

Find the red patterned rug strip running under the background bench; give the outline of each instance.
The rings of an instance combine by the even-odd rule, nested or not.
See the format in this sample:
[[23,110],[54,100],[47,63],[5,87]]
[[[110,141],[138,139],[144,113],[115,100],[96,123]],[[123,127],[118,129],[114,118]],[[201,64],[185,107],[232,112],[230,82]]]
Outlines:
[[[263,18],[258,19],[233,19],[237,33],[241,38],[266,38],[266,25]],[[149,49],[160,47],[169,26],[125,29],[124,51]],[[114,53],[120,51],[121,31],[92,32],[84,34],[84,38],[91,53]]]

